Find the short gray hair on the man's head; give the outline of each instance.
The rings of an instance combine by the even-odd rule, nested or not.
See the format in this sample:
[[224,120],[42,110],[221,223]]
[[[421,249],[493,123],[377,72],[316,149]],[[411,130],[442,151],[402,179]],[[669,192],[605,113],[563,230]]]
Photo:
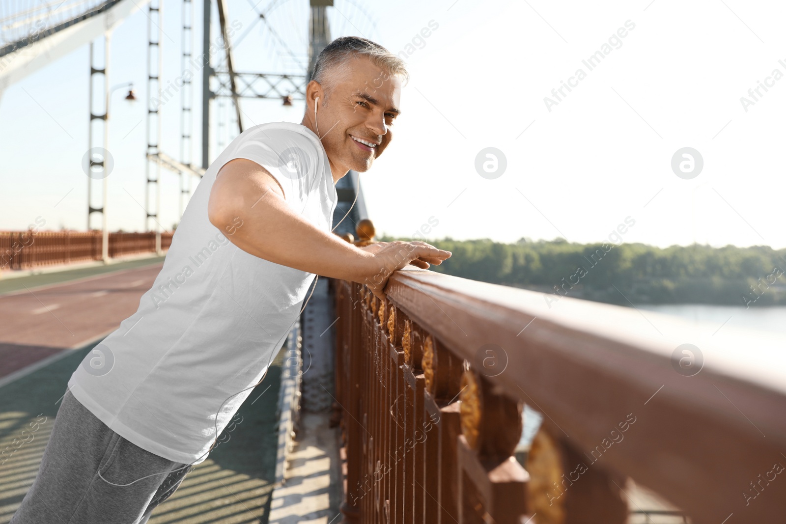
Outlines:
[[[366,57],[374,65],[387,71],[391,76],[400,76],[404,83],[410,79],[406,63],[383,46],[359,36],[342,36],[330,42],[317,57],[311,79],[319,82],[325,90],[325,98],[336,82],[343,77],[343,71],[351,57]],[[341,68],[342,71],[336,71]],[[338,77],[338,78],[336,78]]]

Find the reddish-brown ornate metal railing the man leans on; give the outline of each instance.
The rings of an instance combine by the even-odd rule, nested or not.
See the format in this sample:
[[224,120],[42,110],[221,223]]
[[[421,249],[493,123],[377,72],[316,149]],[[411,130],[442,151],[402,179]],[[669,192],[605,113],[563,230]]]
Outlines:
[[[621,524],[629,478],[691,522],[783,522],[778,342],[427,271],[385,301],[332,288],[345,522]],[[544,414],[526,469],[524,402]]]

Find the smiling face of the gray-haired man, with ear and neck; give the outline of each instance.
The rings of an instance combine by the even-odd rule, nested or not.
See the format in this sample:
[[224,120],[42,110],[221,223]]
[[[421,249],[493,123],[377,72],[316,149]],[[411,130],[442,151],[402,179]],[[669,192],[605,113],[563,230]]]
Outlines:
[[392,126],[400,113],[402,82],[362,56],[352,57],[331,73],[336,76],[329,86],[309,82],[303,125],[321,138],[336,181],[347,170],[369,170],[390,144]]

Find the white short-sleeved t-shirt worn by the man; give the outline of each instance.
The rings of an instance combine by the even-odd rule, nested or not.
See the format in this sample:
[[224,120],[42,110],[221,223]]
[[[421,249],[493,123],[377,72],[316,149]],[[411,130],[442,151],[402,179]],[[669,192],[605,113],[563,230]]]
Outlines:
[[242,217],[225,231],[208,220],[216,174],[236,158],[265,167],[292,209],[330,231],[338,198],[317,135],[285,122],[244,131],[196,187],[163,268],[137,312],[68,380],[75,398],[110,429],[183,464],[207,458],[253,388],[237,393],[262,378],[314,280],[313,273],[268,262],[231,244],[229,236],[237,228],[251,227]]

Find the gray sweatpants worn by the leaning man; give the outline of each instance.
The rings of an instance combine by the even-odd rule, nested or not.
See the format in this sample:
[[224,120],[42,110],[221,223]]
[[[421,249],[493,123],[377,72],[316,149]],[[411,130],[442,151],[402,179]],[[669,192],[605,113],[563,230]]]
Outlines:
[[145,524],[190,469],[128,442],[68,391],[10,524]]

